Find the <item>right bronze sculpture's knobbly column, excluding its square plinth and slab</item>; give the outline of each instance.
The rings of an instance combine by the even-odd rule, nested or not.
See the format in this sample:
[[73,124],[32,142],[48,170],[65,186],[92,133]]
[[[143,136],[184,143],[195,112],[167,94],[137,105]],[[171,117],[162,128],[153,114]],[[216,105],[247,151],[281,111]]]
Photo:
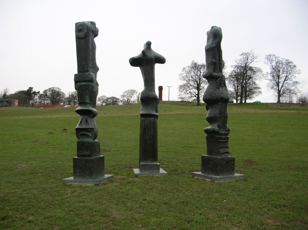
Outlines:
[[230,129],[227,125],[227,104],[229,93],[225,76],[222,73],[224,61],[221,51],[221,28],[213,26],[207,35],[206,73],[203,76],[209,82],[203,95],[203,101],[206,103],[206,110],[208,110],[206,120],[210,124],[210,127],[204,129],[207,134],[207,155],[228,157]]

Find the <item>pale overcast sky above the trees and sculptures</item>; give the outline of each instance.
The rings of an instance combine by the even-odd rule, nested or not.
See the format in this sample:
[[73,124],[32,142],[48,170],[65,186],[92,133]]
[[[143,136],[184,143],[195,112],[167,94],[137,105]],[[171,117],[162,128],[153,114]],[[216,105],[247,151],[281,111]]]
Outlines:
[[[147,41],[166,58],[155,65],[156,94],[177,101],[182,68],[205,63],[206,32],[222,29],[222,54],[229,72],[240,54],[253,50],[255,66],[269,72],[267,54],[287,58],[301,70],[298,89],[308,91],[308,1],[306,0],[0,0],[0,90],[9,93],[59,87],[74,91],[77,73],[75,23],[93,21],[99,66],[98,97],[120,97],[124,90],[142,91],[139,67],[128,60]],[[251,101],[276,102],[259,80],[262,94]],[[168,88],[167,86],[171,86]]]

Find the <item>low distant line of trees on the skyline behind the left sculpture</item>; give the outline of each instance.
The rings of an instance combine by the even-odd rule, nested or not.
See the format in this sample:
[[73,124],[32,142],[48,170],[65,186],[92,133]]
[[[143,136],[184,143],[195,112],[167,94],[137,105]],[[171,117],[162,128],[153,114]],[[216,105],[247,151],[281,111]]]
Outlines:
[[[1,99],[18,100],[20,107],[35,107],[39,105],[78,105],[77,91],[63,93],[58,87],[45,89],[42,93],[35,91],[33,87],[26,90],[19,90],[9,93],[5,88],[0,91]],[[120,98],[100,96],[97,98],[97,105],[129,105],[140,103],[140,92],[136,89],[125,90]]]

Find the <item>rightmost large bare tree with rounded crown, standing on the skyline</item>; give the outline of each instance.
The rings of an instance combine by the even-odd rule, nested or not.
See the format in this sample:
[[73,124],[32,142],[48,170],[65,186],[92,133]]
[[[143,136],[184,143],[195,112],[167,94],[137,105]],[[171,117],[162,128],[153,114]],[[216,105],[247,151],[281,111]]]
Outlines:
[[277,103],[281,102],[282,97],[297,95],[299,82],[294,79],[301,71],[293,61],[269,54],[265,56],[265,64],[270,66],[270,72],[264,78],[269,81],[267,87],[277,95]]

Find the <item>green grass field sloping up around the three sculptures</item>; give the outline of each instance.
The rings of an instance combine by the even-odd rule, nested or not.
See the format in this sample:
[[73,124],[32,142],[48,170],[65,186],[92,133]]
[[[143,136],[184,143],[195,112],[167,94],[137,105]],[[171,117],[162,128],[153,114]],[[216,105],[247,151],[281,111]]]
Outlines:
[[206,154],[205,106],[159,104],[158,158],[168,176],[135,177],[139,105],[98,106],[101,186],[72,186],[69,108],[0,109],[0,229],[308,229],[308,108],[228,105],[230,155],[245,180],[191,177]]

